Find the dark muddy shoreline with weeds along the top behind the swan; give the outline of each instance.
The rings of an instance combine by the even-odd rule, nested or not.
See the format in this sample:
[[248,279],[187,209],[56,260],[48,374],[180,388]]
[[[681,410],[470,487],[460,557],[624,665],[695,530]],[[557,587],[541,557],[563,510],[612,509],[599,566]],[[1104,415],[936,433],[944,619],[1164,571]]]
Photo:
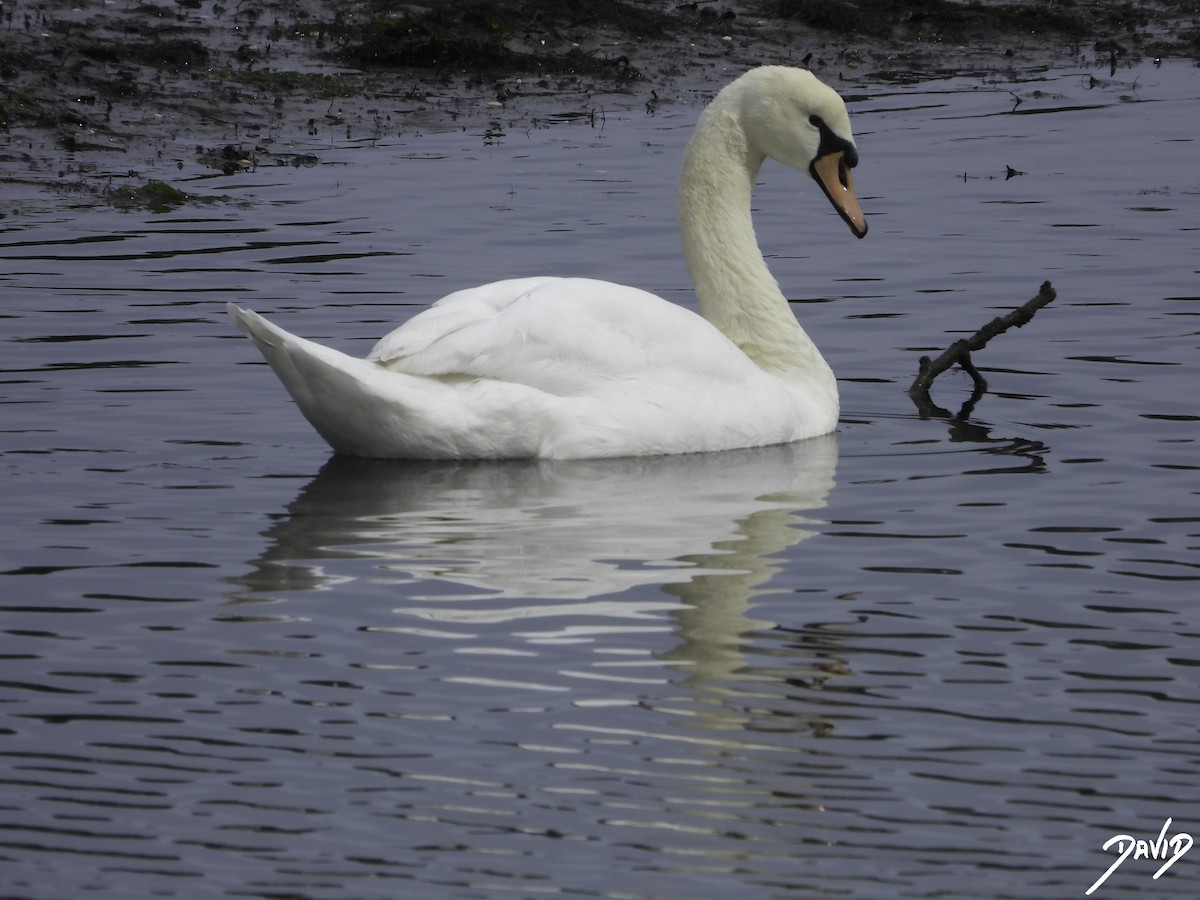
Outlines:
[[[695,98],[754,65],[918,80],[1200,56],[1190,2],[73,0],[0,4],[0,214],[166,210],[323,140],[548,125]],[[228,184],[228,182],[227,182]]]

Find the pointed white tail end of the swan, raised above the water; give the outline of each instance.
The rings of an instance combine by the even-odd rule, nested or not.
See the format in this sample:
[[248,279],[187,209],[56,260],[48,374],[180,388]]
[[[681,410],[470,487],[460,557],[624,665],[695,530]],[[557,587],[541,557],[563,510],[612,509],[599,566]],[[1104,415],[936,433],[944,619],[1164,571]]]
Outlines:
[[[254,342],[305,419],[334,450],[350,456],[425,455],[413,445],[409,415],[428,415],[425,379],[396,396],[395,374],[377,362],[293,335],[256,312],[228,305],[238,328]],[[388,390],[384,382],[391,382]],[[386,395],[386,396],[385,396]],[[406,409],[407,407],[407,409]],[[407,414],[406,414],[407,413]]]

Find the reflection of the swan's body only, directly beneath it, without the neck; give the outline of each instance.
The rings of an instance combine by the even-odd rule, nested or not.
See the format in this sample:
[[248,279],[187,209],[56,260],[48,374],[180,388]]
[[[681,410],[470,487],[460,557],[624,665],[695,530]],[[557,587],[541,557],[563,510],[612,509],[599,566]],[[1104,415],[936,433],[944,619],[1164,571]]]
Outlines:
[[[577,602],[661,584],[685,599],[746,599],[780,568],[773,556],[810,534],[804,512],[824,505],[836,462],[833,436],[632,460],[335,456],[268,529],[269,546],[239,582],[262,593],[370,578],[395,584],[408,602],[448,592]],[[659,600],[656,608],[674,606]],[[412,612],[517,614],[445,606]]]

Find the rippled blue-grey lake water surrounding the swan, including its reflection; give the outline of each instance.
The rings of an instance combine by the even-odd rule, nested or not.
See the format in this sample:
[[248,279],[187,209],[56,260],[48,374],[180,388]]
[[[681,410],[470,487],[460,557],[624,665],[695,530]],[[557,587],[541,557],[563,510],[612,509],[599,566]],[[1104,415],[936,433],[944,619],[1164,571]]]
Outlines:
[[757,196],[842,389],[785,448],[332,458],[223,311],[365,353],[500,277],[688,302],[695,95],[278,134],[317,158],[158,215],[0,186],[0,894],[1082,896],[1128,834],[1093,896],[1195,896],[1145,851],[1200,833],[1200,70],[840,88],[870,235]]

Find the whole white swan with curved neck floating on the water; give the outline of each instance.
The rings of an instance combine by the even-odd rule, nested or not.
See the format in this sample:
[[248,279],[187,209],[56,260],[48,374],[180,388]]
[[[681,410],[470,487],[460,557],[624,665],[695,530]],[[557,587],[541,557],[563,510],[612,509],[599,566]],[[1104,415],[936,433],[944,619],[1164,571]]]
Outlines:
[[443,298],[355,359],[229,313],[320,436],[353,456],[652,456],[824,434],[838,422],[833,372],[751,222],[767,156],[808,170],[866,234],[841,97],[803,70],[748,72],[700,116],[679,178],[702,317],[608,282],[499,281]]

